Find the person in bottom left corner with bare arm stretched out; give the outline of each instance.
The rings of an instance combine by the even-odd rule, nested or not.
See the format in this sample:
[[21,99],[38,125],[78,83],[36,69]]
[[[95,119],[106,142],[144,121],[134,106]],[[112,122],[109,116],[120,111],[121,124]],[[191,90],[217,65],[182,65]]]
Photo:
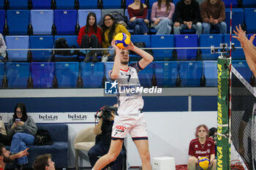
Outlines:
[[22,150],[16,154],[10,155],[10,151],[6,150],[4,144],[0,143],[0,170],[4,170],[7,163],[10,163],[15,158],[21,158],[23,156],[29,155],[29,148]]

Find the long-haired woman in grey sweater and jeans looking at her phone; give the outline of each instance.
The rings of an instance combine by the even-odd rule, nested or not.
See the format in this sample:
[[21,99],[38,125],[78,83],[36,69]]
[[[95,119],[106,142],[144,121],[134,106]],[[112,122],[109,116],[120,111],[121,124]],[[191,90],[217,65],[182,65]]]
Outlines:
[[[34,144],[34,136],[37,134],[37,125],[34,123],[32,117],[26,113],[24,104],[17,104],[15,106],[14,115],[7,125],[7,135],[12,136],[11,153],[18,153],[25,150],[27,145]],[[22,169],[23,165],[28,163],[28,158],[23,156],[18,158],[18,165]]]

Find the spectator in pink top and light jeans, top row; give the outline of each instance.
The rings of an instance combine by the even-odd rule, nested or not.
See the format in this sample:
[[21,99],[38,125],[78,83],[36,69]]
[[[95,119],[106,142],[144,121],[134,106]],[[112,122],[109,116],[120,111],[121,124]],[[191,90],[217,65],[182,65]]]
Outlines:
[[151,9],[151,21],[157,34],[170,34],[173,26],[173,13],[175,5],[170,0],[158,0]]

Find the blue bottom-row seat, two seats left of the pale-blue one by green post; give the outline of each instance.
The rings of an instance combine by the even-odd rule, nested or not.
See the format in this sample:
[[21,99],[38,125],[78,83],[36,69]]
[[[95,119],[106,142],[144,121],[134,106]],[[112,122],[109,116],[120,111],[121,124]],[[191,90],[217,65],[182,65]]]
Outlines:
[[176,87],[177,61],[155,61],[154,70],[157,77],[157,87]]

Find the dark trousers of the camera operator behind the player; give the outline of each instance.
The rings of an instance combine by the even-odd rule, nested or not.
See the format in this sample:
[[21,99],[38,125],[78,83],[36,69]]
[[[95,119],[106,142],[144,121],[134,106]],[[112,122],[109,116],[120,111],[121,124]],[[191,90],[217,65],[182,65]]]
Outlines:
[[[94,164],[99,159],[98,157],[108,153],[109,148],[110,146],[106,146],[102,142],[98,142],[97,144],[94,145],[94,147],[91,147],[91,150],[89,150],[88,152],[91,167],[94,167]],[[116,161],[113,162],[113,170],[121,169],[125,154],[126,152],[122,149],[118,157],[116,158]]]

